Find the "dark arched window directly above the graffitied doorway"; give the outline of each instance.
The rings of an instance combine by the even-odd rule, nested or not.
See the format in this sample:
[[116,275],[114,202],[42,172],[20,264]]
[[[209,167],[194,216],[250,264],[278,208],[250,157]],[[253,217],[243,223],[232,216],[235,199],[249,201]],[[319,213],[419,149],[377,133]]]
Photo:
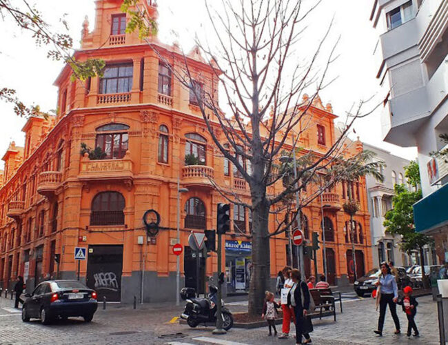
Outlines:
[[118,192],[102,192],[92,201],[90,225],[125,224],[125,198]]

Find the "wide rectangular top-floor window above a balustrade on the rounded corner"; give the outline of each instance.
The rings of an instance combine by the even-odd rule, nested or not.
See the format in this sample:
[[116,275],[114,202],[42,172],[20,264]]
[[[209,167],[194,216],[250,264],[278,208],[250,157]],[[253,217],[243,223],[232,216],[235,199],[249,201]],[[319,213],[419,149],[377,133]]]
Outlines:
[[132,88],[132,63],[106,66],[99,81],[99,93],[125,93]]

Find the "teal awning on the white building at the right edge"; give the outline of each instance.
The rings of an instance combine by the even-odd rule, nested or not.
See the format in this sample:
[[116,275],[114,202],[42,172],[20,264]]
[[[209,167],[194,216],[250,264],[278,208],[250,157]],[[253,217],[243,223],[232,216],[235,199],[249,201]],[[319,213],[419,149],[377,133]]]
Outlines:
[[448,224],[448,184],[414,204],[418,233],[428,233]]

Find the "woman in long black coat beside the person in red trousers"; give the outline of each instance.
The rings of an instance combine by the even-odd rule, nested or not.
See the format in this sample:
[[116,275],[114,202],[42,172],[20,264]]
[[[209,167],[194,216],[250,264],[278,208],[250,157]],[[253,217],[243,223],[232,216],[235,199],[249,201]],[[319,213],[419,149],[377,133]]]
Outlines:
[[[297,269],[292,270],[291,279],[294,286],[289,290],[287,304],[294,308],[296,315],[296,344],[309,344],[312,342],[309,333],[313,331],[313,324],[307,316],[310,305],[308,286],[301,280],[301,273]],[[305,337],[303,343],[302,335]]]

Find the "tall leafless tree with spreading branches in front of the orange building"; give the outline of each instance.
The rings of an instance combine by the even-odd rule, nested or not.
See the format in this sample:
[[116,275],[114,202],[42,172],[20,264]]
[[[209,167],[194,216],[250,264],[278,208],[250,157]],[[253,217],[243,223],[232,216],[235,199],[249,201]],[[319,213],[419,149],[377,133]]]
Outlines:
[[[210,33],[212,38],[203,40],[205,42],[196,39],[196,56],[209,61],[212,77],[218,79],[224,91],[221,101],[232,116],[225,115],[220,107],[216,91],[210,87],[212,81],[198,82],[204,76],[198,75],[186,55],[181,64],[172,67],[174,77],[194,94],[214,145],[250,187],[250,202],[241,200],[236,193],[225,195],[234,204],[252,210],[250,314],[261,313],[265,290],[271,287],[269,239],[285,232],[295,218],[288,217],[294,202],[285,203],[285,199],[292,199],[292,195],[303,190],[317,173],[325,173],[336,157],[342,159],[342,146],[350,126],[355,119],[371,112],[361,115],[365,102],[360,101],[356,110],[347,114],[341,136],[326,150],[302,150],[305,158],[296,174],[291,173],[291,168],[278,164],[285,147],[289,147],[290,157],[294,155],[292,152],[298,149],[303,132],[315,124],[316,119],[309,110],[318,92],[327,86],[327,70],[335,59],[336,44],[329,47],[323,64],[317,62],[331,24],[315,50],[307,51],[300,45],[307,18],[318,3],[320,1],[315,1],[309,6],[308,1],[301,0],[221,0],[211,8],[210,1],[205,1],[213,32]],[[142,26],[144,17],[140,15],[136,21]],[[208,41],[214,42],[213,46]],[[151,38],[147,42],[160,59],[166,59],[166,52],[162,52],[159,43]],[[166,63],[169,66],[169,61]],[[314,92],[304,97],[305,90]],[[217,135],[216,129],[222,135]],[[247,170],[243,161],[249,161],[252,168]],[[332,175],[320,188],[307,193],[307,197],[299,201],[301,205],[295,206],[295,213],[339,177]],[[271,188],[273,186],[275,188]],[[282,214],[283,219],[278,221],[274,232],[269,233],[272,213]]]

